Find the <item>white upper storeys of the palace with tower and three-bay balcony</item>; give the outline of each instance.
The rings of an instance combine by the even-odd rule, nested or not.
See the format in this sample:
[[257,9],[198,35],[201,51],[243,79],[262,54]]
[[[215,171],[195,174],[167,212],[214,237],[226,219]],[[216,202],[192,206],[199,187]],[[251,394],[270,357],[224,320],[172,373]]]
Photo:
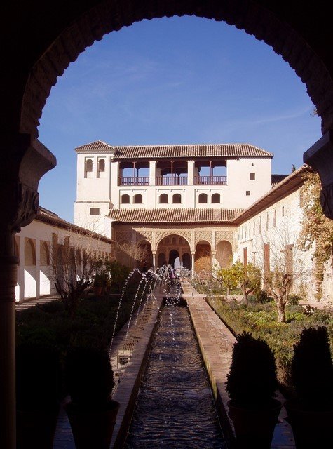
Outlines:
[[[100,141],[76,148],[74,222],[104,233],[102,217],[110,209],[247,208],[271,188],[272,154],[251,145],[215,145],[213,153],[199,147],[196,160],[181,145],[165,152],[137,147],[137,158],[129,147]],[[229,147],[236,147],[232,155]],[[209,174],[201,175],[205,170]]]

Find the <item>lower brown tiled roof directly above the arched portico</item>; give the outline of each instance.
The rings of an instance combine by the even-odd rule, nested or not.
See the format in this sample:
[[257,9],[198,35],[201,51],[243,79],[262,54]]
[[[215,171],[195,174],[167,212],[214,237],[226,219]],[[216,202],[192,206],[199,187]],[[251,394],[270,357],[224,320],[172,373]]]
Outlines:
[[159,208],[111,209],[109,217],[125,223],[222,223],[232,222],[243,209],[217,208]]

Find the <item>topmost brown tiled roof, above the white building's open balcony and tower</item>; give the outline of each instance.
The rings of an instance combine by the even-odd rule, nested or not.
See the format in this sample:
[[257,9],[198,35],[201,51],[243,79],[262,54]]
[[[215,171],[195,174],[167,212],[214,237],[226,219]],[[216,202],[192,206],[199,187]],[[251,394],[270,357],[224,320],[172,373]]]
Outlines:
[[205,144],[205,145],[137,145],[128,147],[111,147],[107,143],[92,142],[76,148],[76,152],[114,153],[117,159],[165,159],[171,157],[273,157],[272,153],[254,145],[243,143]]

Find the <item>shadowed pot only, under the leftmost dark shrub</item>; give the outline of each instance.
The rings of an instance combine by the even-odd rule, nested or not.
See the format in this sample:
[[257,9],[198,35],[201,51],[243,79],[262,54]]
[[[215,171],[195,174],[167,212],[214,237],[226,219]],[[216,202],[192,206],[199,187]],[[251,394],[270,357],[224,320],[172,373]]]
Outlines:
[[17,449],[52,449],[60,406],[43,410],[17,410]]

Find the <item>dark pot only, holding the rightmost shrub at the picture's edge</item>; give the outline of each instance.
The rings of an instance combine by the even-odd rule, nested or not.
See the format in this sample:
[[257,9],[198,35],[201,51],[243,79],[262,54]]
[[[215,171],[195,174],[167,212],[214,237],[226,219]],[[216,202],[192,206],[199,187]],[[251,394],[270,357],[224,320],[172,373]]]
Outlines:
[[287,422],[292,427],[297,449],[326,448],[333,438],[331,410],[304,410],[297,401],[286,401]]

